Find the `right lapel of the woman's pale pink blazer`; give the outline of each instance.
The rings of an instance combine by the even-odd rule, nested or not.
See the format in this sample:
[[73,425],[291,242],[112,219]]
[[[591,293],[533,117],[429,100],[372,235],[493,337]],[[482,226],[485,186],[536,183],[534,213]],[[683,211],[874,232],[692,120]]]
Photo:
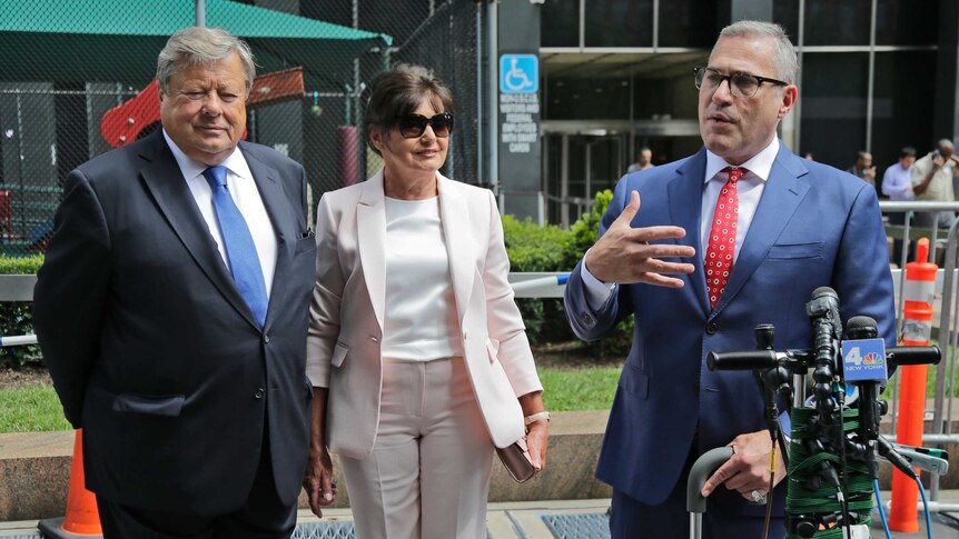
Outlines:
[[[449,277],[453,281],[453,297],[456,298],[456,313],[459,316],[462,326],[473,291],[475,271],[472,247],[473,238],[477,234],[471,233],[469,208],[454,181],[439,172],[436,172],[436,180],[439,191],[439,223],[446,242],[446,254],[449,257]],[[498,219],[500,214],[491,217]]]

